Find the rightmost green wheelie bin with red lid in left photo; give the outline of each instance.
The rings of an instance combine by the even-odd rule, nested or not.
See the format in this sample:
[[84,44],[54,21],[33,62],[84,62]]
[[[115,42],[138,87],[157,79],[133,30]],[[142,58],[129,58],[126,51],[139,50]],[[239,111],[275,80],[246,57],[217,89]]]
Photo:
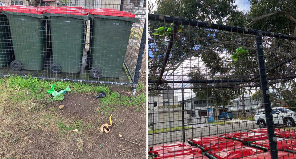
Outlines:
[[135,14],[115,9],[91,9],[90,59],[92,78],[119,78]]

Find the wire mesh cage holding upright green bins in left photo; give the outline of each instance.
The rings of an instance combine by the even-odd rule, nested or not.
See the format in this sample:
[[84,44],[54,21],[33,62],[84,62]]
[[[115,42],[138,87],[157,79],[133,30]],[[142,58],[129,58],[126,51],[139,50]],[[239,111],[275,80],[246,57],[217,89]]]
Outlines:
[[77,2],[1,6],[0,75],[124,85],[135,93],[146,0]]

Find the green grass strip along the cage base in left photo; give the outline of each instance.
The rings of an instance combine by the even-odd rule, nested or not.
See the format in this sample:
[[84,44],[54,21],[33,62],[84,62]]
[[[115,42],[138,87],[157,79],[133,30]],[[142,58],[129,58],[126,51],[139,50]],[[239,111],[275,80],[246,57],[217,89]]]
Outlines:
[[[43,102],[43,103],[51,103],[53,97],[46,92],[46,90],[51,89],[50,85],[55,84],[55,90],[60,91],[61,89],[65,89],[68,85],[71,87],[71,92],[74,93],[91,93],[94,92],[95,94],[103,91],[107,94],[106,97],[101,98],[99,102],[100,107],[97,108],[98,113],[103,113],[105,116],[113,111],[113,109],[118,109],[119,106],[124,106],[129,108],[131,105],[136,107],[136,110],[141,109],[142,105],[146,102],[146,95],[144,93],[139,93],[135,97],[130,97],[127,95],[120,95],[118,92],[112,91],[109,89],[108,86],[102,85],[93,85],[93,84],[86,84],[86,83],[75,83],[75,82],[68,82],[68,81],[46,81],[46,80],[39,80],[37,78],[33,78],[28,76],[28,78],[21,78],[21,77],[9,77],[9,78],[1,78],[0,85],[7,85],[9,90],[2,90],[5,91],[5,94],[10,94],[9,91],[14,91],[14,96],[7,96],[8,99],[12,100],[14,103],[27,103],[29,105],[30,101],[33,99],[36,102]],[[19,88],[19,91],[15,93],[15,91]],[[143,90],[144,86],[142,83],[139,83],[137,89]],[[66,94],[67,95],[67,94]],[[9,108],[13,108],[15,105],[11,105]],[[36,109],[42,110],[43,105],[35,106]],[[6,109],[2,107],[0,111]]]

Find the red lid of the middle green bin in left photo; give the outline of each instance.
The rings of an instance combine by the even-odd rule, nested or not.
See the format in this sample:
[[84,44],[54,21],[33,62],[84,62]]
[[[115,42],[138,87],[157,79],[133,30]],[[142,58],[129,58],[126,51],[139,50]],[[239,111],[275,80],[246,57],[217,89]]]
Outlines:
[[69,9],[65,7],[53,8],[49,10],[44,10],[46,13],[54,13],[54,14],[71,14],[71,15],[87,15],[88,13],[84,10],[79,9]]

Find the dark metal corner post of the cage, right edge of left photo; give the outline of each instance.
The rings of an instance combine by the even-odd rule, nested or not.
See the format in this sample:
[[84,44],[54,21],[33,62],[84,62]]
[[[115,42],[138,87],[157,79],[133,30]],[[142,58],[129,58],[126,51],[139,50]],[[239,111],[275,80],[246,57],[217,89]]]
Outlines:
[[138,54],[138,60],[137,60],[137,64],[136,64],[134,85],[132,88],[133,96],[136,95],[137,85],[138,85],[140,71],[141,71],[142,59],[144,56],[145,44],[146,44],[146,18],[145,18],[145,24],[144,24],[143,33],[142,33],[142,39],[141,39],[141,44],[140,44],[140,49],[139,49],[139,54]]

